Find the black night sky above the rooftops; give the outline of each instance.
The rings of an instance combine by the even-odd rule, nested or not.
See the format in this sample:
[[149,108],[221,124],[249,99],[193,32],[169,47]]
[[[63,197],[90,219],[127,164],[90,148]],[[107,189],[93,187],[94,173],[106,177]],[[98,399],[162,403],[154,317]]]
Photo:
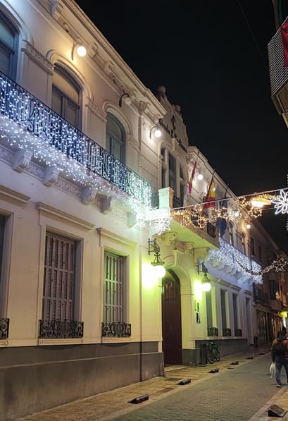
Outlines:
[[[151,92],[166,87],[189,144],[236,195],[287,187],[288,128],[270,97],[271,0],[76,2]],[[288,252],[286,219],[271,209],[259,221]]]

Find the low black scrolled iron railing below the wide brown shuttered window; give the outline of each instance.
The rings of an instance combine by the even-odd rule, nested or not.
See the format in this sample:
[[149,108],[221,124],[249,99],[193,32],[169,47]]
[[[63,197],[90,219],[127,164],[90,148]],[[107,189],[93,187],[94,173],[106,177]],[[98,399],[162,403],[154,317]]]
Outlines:
[[82,338],[83,322],[75,320],[39,320],[39,338]]

